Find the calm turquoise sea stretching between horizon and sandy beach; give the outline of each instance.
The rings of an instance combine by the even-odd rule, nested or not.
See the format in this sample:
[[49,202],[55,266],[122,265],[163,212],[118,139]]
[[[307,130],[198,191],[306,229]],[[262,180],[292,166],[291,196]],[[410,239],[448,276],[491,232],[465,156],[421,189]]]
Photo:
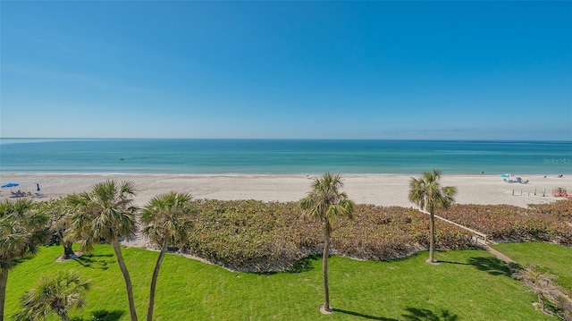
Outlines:
[[571,141],[0,139],[0,173],[572,173]]

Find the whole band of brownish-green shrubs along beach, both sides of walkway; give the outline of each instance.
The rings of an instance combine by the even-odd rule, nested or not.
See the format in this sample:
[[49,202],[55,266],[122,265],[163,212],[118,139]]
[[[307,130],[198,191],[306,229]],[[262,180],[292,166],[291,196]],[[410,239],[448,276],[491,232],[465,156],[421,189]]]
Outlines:
[[[186,249],[193,255],[234,270],[265,272],[289,269],[308,255],[321,254],[319,222],[302,215],[297,203],[199,199]],[[572,201],[553,204],[572,213]],[[572,246],[572,216],[507,205],[453,205],[438,212],[489,239],[555,241]],[[428,215],[414,208],[358,204],[353,219],[341,217],[332,232],[332,253],[360,259],[405,258],[429,248]],[[435,222],[436,249],[471,249],[470,232]]]

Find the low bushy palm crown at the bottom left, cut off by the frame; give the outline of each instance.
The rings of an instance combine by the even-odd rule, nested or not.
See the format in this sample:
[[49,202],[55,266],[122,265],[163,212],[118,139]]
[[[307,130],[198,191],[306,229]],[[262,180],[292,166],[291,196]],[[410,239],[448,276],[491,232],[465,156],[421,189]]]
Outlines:
[[90,280],[82,281],[75,271],[59,271],[53,277],[43,277],[34,289],[21,297],[22,309],[16,321],[46,320],[55,313],[62,321],[70,321],[71,308],[85,306],[84,294],[89,290]]

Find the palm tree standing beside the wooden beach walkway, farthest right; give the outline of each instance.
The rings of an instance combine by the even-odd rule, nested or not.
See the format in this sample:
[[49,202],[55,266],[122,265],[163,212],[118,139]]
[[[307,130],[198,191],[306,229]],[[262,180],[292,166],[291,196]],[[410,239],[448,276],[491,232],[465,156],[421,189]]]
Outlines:
[[435,247],[435,216],[437,208],[449,208],[455,201],[457,188],[441,186],[439,180],[441,172],[433,169],[424,172],[419,179],[411,178],[409,182],[409,200],[416,203],[420,209],[429,212],[429,262],[433,263],[433,251]]

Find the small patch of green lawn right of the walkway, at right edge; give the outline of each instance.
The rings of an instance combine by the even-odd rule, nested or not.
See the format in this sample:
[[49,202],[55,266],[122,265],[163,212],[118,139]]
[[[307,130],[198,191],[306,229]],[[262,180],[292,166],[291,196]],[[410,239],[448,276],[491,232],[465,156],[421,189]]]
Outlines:
[[501,243],[493,246],[520,266],[540,266],[558,275],[560,285],[572,291],[572,248],[543,242]]

